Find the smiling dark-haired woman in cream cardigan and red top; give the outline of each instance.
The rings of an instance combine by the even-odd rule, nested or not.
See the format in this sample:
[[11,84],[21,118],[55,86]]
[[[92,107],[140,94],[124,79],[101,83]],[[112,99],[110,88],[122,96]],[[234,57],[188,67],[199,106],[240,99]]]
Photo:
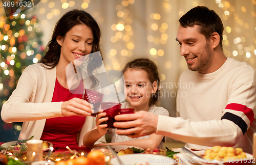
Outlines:
[[[59,19],[45,56],[23,71],[3,105],[3,121],[24,122],[19,139],[34,135],[34,139],[54,146],[82,145],[82,137],[93,129],[95,119],[90,117],[93,110],[89,102],[81,99],[82,94],[69,91],[66,67],[82,57],[88,61],[88,75],[92,75],[102,64],[98,56],[90,54],[100,51],[99,40],[99,26],[87,12],[72,10]],[[83,89],[82,82],[77,88]],[[92,87],[98,85],[94,76],[90,76],[90,82]]]

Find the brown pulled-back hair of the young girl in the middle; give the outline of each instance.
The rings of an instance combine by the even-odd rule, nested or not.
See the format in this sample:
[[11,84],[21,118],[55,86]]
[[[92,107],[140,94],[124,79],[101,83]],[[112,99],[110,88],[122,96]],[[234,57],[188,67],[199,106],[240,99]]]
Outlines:
[[153,82],[157,81],[157,91],[151,95],[150,102],[148,102],[150,106],[155,104],[158,100],[160,82],[157,65],[149,59],[135,59],[127,63],[122,72],[124,73],[128,69],[144,70],[147,72],[147,78],[150,80],[152,86]]

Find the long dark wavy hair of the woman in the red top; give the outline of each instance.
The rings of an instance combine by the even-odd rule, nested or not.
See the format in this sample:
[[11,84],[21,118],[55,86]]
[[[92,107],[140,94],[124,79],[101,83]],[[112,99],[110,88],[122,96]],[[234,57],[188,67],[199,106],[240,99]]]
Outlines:
[[[47,52],[45,56],[42,57],[42,59],[39,61],[41,65],[44,64],[42,66],[51,69],[58,64],[61,46],[57,43],[57,37],[61,36],[63,39],[65,39],[67,32],[69,32],[75,25],[79,24],[87,25],[93,32],[92,52],[100,51],[99,41],[101,32],[99,25],[89,13],[83,10],[74,9],[64,14],[56,23],[52,34],[52,39],[46,46]],[[92,80],[92,87],[98,85],[98,80],[93,76],[92,72],[101,64],[102,57],[93,56],[93,54],[89,56],[87,71],[90,79]]]

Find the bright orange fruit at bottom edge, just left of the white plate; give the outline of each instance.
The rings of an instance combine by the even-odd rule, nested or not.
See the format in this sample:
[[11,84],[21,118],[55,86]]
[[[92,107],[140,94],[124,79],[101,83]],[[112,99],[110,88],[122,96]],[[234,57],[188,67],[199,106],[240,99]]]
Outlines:
[[87,158],[89,160],[89,164],[97,164],[103,165],[105,164],[104,154],[98,150],[94,150],[88,153]]

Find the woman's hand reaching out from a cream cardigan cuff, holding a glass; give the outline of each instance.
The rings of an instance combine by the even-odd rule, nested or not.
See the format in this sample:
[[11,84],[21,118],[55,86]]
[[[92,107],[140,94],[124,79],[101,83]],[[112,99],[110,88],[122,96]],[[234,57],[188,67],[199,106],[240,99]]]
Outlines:
[[93,105],[91,105],[86,100],[80,98],[72,98],[69,101],[62,102],[61,104],[61,114],[62,116],[81,116],[87,117],[91,116],[94,111],[92,110]]

